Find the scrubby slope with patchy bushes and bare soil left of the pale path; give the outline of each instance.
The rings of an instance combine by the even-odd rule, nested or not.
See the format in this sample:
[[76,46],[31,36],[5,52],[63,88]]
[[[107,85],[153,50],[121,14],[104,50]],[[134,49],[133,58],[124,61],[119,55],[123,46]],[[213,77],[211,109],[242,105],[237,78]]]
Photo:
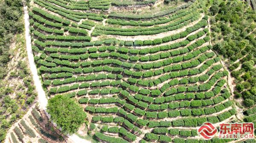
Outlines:
[[[26,110],[36,98],[36,93],[26,63],[22,0],[2,0],[0,19],[0,142],[2,142],[9,127],[26,114]],[[17,62],[10,63],[12,58]]]

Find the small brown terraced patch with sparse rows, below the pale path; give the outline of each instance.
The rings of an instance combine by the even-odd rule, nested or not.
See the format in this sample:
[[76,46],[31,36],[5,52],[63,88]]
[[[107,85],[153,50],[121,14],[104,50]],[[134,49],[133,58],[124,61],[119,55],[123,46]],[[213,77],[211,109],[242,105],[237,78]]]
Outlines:
[[32,107],[28,113],[10,129],[6,142],[8,143],[67,143],[44,111]]

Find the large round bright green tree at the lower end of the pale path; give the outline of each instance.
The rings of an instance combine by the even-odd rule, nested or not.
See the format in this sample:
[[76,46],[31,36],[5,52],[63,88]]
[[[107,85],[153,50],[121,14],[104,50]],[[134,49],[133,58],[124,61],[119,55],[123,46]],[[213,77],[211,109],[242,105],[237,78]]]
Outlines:
[[55,95],[49,99],[47,112],[65,135],[77,132],[87,117],[83,108],[74,99],[65,95]]

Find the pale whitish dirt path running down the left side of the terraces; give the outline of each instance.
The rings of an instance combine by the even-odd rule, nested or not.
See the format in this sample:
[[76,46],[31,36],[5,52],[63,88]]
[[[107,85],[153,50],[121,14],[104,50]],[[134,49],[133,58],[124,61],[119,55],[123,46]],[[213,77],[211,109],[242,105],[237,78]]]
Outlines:
[[[25,20],[25,29],[26,29],[26,32],[25,32],[26,49],[27,49],[27,53],[28,53],[29,67],[30,67],[31,73],[33,75],[35,88],[38,92],[39,108],[45,110],[48,100],[47,100],[46,94],[43,90],[42,83],[38,76],[38,71],[37,71],[37,68],[36,68],[36,65],[34,62],[34,55],[33,55],[32,48],[31,48],[31,35],[29,34],[29,14],[28,14],[27,6],[24,7],[24,20]],[[75,134],[71,135],[69,137],[70,137],[71,142],[73,142],[73,143],[91,143],[88,140],[81,139],[80,137],[78,137]]]

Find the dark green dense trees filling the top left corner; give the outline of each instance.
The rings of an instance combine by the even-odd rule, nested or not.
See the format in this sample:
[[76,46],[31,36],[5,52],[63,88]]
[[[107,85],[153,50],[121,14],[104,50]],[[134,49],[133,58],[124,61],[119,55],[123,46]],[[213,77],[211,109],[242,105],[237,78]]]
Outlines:
[[23,13],[22,0],[2,0],[0,3],[0,79],[6,76],[6,64],[9,62],[9,48],[13,36],[23,31],[20,17]]

